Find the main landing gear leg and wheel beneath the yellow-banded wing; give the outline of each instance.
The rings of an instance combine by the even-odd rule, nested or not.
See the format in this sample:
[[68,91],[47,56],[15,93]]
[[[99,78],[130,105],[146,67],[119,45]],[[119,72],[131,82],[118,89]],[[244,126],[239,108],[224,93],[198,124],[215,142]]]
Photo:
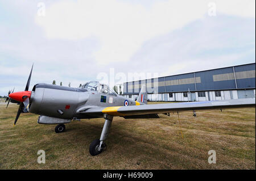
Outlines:
[[111,127],[113,116],[105,114],[104,119],[105,119],[105,124],[104,124],[104,127],[103,127],[102,132],[101,132],[101,138],[94,140],[90,144],[89,151],[90,151],[90,154],[92,156],[100,154],[102,150],[106,149],[106,144],[104,143],[104,141],[106,140],[106,138],[109,135],[109,130],[110,130],[110,127]]

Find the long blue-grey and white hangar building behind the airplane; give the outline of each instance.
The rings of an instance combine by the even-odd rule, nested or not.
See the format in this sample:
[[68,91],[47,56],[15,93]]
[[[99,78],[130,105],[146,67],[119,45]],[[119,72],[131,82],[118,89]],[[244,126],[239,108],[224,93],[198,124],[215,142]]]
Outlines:
[[123,95],[135,100],[145,84],[151,101],[255,98],[255,63],[125,82]]

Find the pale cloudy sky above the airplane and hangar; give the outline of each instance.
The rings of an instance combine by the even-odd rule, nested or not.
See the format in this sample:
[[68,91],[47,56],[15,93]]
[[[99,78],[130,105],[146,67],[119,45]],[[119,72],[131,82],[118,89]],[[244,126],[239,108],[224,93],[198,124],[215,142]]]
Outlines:
[[0,0],[2,96],[25,89],[32,64],[30,90],[253,62],[254,0]]

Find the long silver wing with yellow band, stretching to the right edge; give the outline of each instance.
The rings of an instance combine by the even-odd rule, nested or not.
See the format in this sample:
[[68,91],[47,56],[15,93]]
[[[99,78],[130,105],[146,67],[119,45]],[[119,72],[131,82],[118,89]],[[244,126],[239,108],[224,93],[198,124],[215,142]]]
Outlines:
[[166,103],[166,104],[147,104],[141,106],[115,106],[115,107],[94,107],[79,108],[77,113],[87,113],[92,115],[102,115],[107,113],[113,116],[146,115],[152,113],[166,113],[188,110],[221,109],[235,107],[254,107],[255,99],[232,99],[232,100],[214,100],[205,102],[184,102],[184,103]]

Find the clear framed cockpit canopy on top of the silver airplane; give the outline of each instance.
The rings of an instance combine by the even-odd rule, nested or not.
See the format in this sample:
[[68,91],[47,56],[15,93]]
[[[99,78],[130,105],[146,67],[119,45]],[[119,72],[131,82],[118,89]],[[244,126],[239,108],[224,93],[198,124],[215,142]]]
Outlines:
[[88,91],[97,91],[97,92],[109,94],[109,95],[115,95],[115,96],[117,95],[117,93],[113,89],[111,89],[108,85],[104,83],[100,83],[98,81],[87,82],[84,85],[82,85],[80,88],[86,89]]

